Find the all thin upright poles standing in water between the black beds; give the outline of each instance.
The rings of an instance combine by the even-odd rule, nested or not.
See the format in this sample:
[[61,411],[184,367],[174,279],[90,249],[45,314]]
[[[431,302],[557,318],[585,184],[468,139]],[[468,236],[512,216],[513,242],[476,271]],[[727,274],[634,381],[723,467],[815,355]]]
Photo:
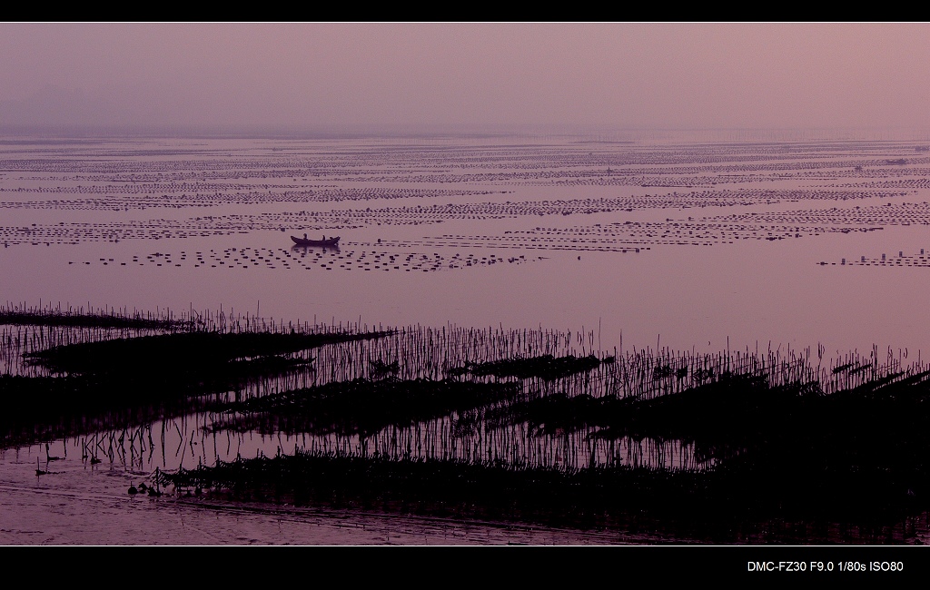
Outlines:
[[[23,311],[21,308],[0,309]],[[36,310],[33,315],[55,315],[58,310]],[[0,361],[5,374],[44,375],[44,370],[24,362],[24,355],[47,347],[67,346],[113,338],[166,334],[179,330],[173,312],[144,315],[152,323],[118,325],[123,320],[140,317],[135,310],[105,310],[91,314],[85,325],[59,325],[55,318],[33,323],[7,323],[0,326]],[[61,313],[64,313],[63,311]],[[68,313],[72,313],[68,310]],[[79,315],[77,312],[72,315]],[[2,315],[0,315],[2,317]],[[117,321],[104,321],[105,318]],[[180,314],[181,321],[191,318],[188,330],[220,330],[237,333],[243,330],[289,334],[344,333],[363,334],[369,326],[332,321],[329,324],[259,320],[254,316],[233,316],[225,312]],[[39,318],[41,319],[41,318]],[[208,327],[208,328],[207,328]],[[515,382],[525,396],[552,393],[569,397],[655,399],[682,392],[723,378],[725,374],[762,375],[770,386],[810,384],[817,394],[830,394],[870,383],[881,377],[906,379],[926,371],[918,356],[908,359],[907,351],[888,349],[880,353],[873,347],[868,354],[847,353],[837,359],[825,359],[823,350],[768,348],[722,351],[713,354],[675,351],[668,347],[617,349],[604,354],[594,347],[593,331],[560,331],[542,328],[510,330],[503,326],[474,328],[447,324],[441,327],[412,325],[400,328],[371,326],[386,335],[327,344],[294,353],[312,360],[286,374],[262,377],[243,387],[214,394],[217,404],[249,400],[305,387],[350,382],[355,379],[396,378],[401,380],[468,379],[475,382]],[[556,379],[533,376],[469,372],[470,367],[502,360],[538,359],[551,355],[555,359],[569,355],[584,358],[594,355],[599,362],[582,372]],[[464,370],[464,371],[456,371]],[[161,469],[195,466],[228,460],[243,453],[262,454],[293,452],[300,447],[313,452],[353,452],[390,457],[424,457],[482,462],[504,462],[528,467],[562,465],[578,468],[586,465],[653,465],[664,468],[697,469],[712,465],[701,459],[693,442],[657,439],[600,439],[591,436],[596,429],[540,435],[526,424],[488,424],[482,416],[454,412],[448,416],[410,426],[387,426],[377,433],[359,436],[340,433],[308,435],[281,432],[269,424],[253,431],[241,431],[236,416],[204,411],[204,400],[192,403],[186,416],[159,419],[151,413],[141,421],[123,414],[113,415],[91,426],[93,433],[82,437],[82,454],[103,456],[111,463],[144,468],[157,463]],[[83,425],[85,428],[88,425]],[[42,426],[47,427],[47,426]],[[40,433],[55,439],[71,426]],[[153,437],[153,430],[157,436]],[[33,435],[36,433],[33,432]],[[143,436],[144,434],[144,436]],[[67,434],[65,435],[67,436]],[[212,451],[208,451],[208,450]],[[196,461],[194,465],[191,462]]]

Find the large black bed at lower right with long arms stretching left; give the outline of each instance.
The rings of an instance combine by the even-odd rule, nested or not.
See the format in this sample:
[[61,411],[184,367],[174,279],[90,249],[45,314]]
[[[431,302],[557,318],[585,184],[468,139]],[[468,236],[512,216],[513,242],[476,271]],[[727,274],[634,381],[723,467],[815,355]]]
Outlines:
[[[714,460],[699,470],[557,468],[519,461],[313,451],[181,470],[165,474],[163,483],[215,487],[236,498],[555,526],[629,528],[648,523],[676,534],[691,531],[702,541],[734,542],[735,531],[748,534],[765,522],[807,523],[802,529],[811,538],[815,532],[807,525],[812,523],[887,531],[930,509],[930,432],[924,427],[930,419],[928,377],[930,372],[889,374],[826,395],[809,383],[770,387],[764,375],[723,373],[711,383],[653,399],[509,396],[510,403],[482,411],[489,425],[526,423],[536,433],[593,428],[591,436],[608,439],[696,441]],[[238,409],[281,418],[301,415],[311,431],[326,425],[322,431],[364,435],[389,423],[480,405],[470,396],[467,404],[449,400],[430,412],[426,400],[439,387],[451,385],[330,384],[317,391],[250,400]],[[419,389],[419,394],[404,394],[402,400],[385,395],[407,388]],[[502,400],[499,395],[490,398]],[[378,419],[394,403],[403,409]],[[365,422],[365,415],[373,421]],[[796,527],[790,529],[800,534]],[[861,541],[875,538],[866,535]]]

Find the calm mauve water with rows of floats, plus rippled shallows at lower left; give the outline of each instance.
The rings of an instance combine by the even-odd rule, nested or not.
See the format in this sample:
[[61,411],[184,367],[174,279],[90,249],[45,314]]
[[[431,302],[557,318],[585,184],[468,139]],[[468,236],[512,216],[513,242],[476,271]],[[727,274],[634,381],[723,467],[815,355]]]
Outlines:
[[[825,358],[877,351],[882,360],[916,361],[930,351],[927,143],[603,139],[0,141],[0,295],[8,306],[222,309],[284,322],[592,334],[578,352],[810,348]],[[339,248],[292,247],[290,236],[304,233],[338,235]],[[305,443],[206,439],[199,419],[155,421],[128,442],[103,428],[109,452],[93,468],[82,461],[86,439],[52,440],[52,454],[67,455],[58,462],[67,483],[58,487],[33,475],[44,447],[7,450],[0,487],[12,499],[0,510],[23,521],[5,526],[20,532],[0,541],[135,543],[116,528],[87,525],[92,511],[82,503],[109,498],[129,526],[151,517],[125,489],[155,467]],[[687,449],[621,452],[692,460]],[[72,506],[62,518],[73,529],[39,516],[47,502]],[[174,510],[155,511],[166,531],[178,518],[187,518],[185,530],[203,530],[188,526],[198,517]],[[231,525],[175,538],[620,542],[299,517],[319,525],[314,536],[298,525],[285,531],[281,522],[291,520],[281,515],[233,512],[219,514],[256,518],[249,526],[257,531]],[[327,536],[348,530],[365,533]]]

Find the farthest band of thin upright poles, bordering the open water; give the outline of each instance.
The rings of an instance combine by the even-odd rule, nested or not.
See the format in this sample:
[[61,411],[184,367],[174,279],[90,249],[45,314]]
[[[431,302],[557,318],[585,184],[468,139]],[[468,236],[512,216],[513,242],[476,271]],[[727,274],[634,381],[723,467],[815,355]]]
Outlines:
[[[85,314],[89,325],[60,325],[54,322],[56,309],[0,308],[0,367],[3,374],[43,374],[41,367],[24,362],[24,355],[50,347],[64,347],[84,342],[113,338],[166,334],[179,330],[223,330],[233,333],[260,331],[278,334],[300,332],[304,334],[351,333],[362,334],[369,330],[366,324],[329,324],[259,319],[251,315],[236,316],[219,312],[189,311],[176,316],[170,310],[159,315],[140,314],[109,308]],[[4,323],[4,315],[29,313],[46,322]],[[83,308],[67,310],[73,316],[84,313]],[[131,321],[144,319],[139,326],[126,323],[113,326],[102,320]],[[191,321],[195,319],[194,321]],[[177,323],[181,321],[182,323]],[[161,327],[157,322],[162,322]],[[526,387],[543,391],[557,387],[569,394],[588,393],[594,397],[613,395],[654,398],[676,393],[690,387],[720,378],[722,374],[765,375],[772,387],[791,383],[817,384],[823,393],[854,388],[889,374],[906,378],[926,371],[923,361],[908,360],[907,350],[887,350],[887,355],[873,347],[868,354],[849,352],[836,359],[824,359],[823,350],[810,347],[802,350],[781,347],[773,350],[752,351],[749,348],[717,353],[675,351],[660,349],[632,349],[620,353],[595,349],[593,331],[573,332],[554,329],[506,329],[500,327],[473,328],[447,324],[442,327],[411,325],[392,328],[378,325],[371,330],[390,334],[373,340],[356,340],[327,345],[296,353],[295,357],[311,360],[310,368],[264,380],[242,392],[246,397],[264,395],[299,387],[319,386],[334,381],[385,376],[385,367],[396,367],[391,376],[400,379],[445,379],[456,369],[469,364],[505,359],[531,359],[542,355],[565,357],[593,355],[601,364],[592,371],[565,377],[558,384],[545,379],[529,379]],[[606,354],[605,352],[609,352]],[[494,381],[507,377],[475,377]]]

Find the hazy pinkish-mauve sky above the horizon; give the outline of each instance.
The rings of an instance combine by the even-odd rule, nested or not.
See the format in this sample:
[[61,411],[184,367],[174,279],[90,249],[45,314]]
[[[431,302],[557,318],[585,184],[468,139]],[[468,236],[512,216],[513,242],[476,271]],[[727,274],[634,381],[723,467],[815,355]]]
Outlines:
[[930,23],[0,23],[0,125],[930,127]]

